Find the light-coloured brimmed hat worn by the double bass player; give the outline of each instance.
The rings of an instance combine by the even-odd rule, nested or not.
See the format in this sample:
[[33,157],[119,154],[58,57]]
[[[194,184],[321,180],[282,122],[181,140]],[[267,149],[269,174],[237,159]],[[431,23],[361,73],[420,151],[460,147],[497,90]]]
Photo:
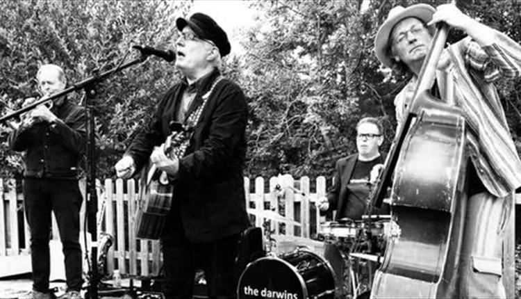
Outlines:
[[435,12],[436,9],[428,4],[415,4],[407,8],[403,6],[392,8],[389,11],[386,22],[381,24],[377,36],[374,38],[374,53],[377,54],[378,60],[388,67],[392,65],[392,59],[388,56],[387,47],[389,45],[389,35],[398,22],[407,17],[415,17],[425,23],[429,23]]

